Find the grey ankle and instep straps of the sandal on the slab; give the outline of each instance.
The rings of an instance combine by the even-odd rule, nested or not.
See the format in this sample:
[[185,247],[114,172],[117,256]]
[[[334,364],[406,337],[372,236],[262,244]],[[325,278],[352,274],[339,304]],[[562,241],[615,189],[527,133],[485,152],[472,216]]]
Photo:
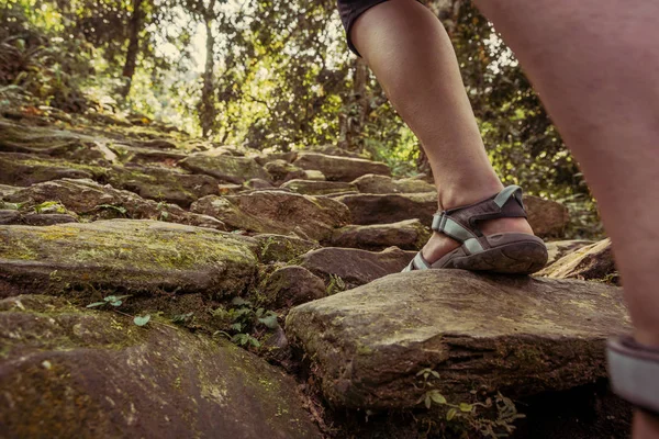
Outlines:
[[522,201],[522,188],[509,185],[496,195],[467,206],[449,209],[433,216],[432,229],[440,232],[472,251],[482,251],[478,238],[483,233],[478,222],[504,217],[526,217]]

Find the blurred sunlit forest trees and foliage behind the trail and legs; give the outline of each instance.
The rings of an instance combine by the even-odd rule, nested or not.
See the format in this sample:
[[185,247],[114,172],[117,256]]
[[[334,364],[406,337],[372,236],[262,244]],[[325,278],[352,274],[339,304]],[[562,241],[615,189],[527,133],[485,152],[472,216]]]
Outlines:
[[[569,235],[602,234],[577,164],[510,49],[468,1],[431,0],[506,183],[561,201]],[[0,0],[0,109],[138,114],[217,144],[334,144],[428,172],[334,0]]]

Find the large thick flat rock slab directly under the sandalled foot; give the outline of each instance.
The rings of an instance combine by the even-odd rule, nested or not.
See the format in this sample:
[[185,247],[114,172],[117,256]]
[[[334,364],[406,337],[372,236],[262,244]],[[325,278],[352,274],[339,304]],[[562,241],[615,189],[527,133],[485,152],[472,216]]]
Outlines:
[[619,288],[427,270],[298,306],[286,328],[333,405],[401,408],[423,395],[425,368],[449,403],[591,383],[606,375],[606,338],[630,324]]

